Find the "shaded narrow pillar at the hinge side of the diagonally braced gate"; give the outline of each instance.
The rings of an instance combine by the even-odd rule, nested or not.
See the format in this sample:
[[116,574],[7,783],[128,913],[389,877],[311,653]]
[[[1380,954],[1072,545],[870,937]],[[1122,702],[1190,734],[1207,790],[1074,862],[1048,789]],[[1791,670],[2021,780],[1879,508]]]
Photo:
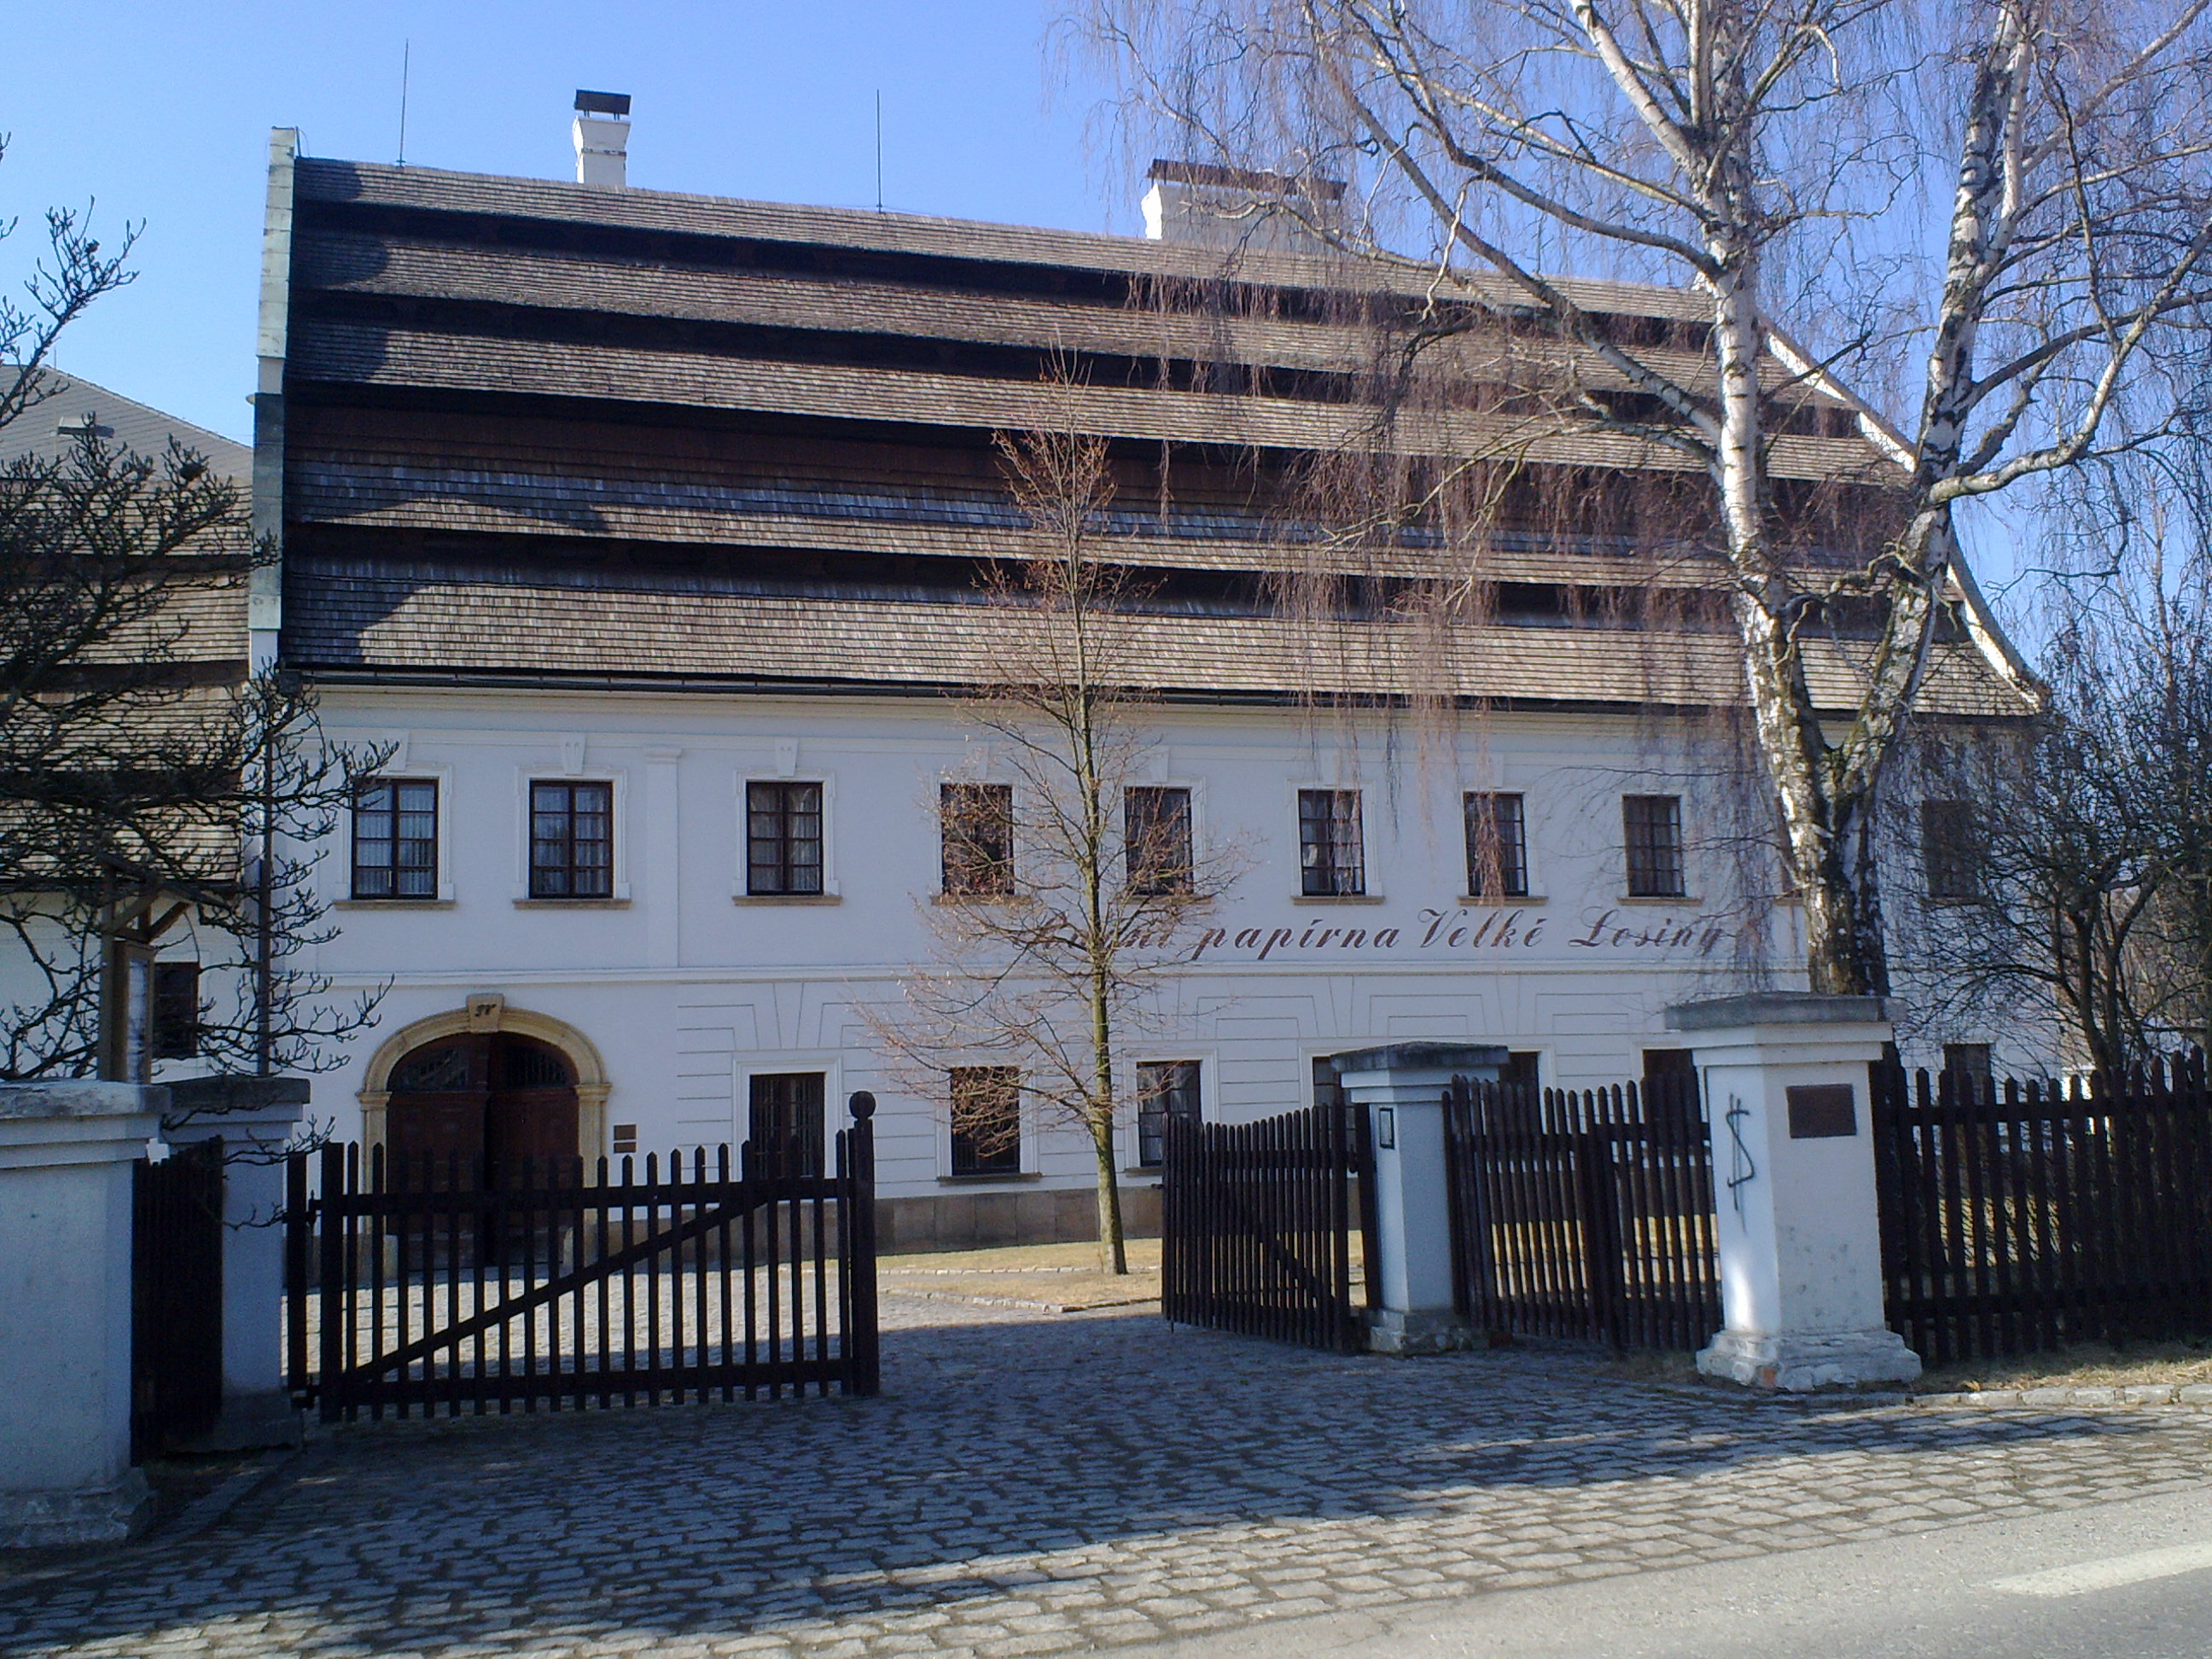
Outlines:
[[168,1086],[161,1139],[223,1141],[223,1416],[204,1451],[299,1442],[283,1376],[283,1152],[307,1113],[305,1077],[190,1077]]

